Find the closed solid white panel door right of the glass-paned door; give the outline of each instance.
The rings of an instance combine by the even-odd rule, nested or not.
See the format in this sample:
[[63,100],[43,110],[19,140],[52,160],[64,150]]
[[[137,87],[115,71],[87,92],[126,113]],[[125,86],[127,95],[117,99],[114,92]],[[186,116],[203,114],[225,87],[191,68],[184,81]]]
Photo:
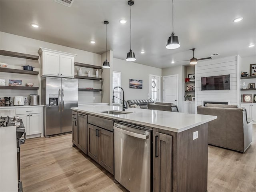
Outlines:
[[173,103],[179,108],[178,74],[163,76],[163,102]]

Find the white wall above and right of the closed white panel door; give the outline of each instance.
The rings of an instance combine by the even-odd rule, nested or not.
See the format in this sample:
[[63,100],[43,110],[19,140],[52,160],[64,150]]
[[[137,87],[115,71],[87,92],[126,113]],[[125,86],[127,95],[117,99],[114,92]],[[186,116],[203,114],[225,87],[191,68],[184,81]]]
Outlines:
[[185,68],[184,66],[174,66],[169,68],[163,68],[162,69],[162,76],[168,76],[168,75],[179,75],[179,112],[183,112],[183,101],[184,101],[184,84],[185,84],[185,76],[184,72]]

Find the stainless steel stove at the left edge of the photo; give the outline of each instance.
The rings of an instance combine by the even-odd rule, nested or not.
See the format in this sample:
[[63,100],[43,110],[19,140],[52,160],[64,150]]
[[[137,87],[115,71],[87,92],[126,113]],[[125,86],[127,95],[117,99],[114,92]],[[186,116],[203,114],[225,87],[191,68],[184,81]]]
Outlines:
[[[17,162],[18,162],[18,192],[23,192],[22,182],[20,181],[20,144],[24,144],[26,140],[25,126],[18,116],[11,118],[9,116],[0,117],[0,127],[16,126],[16,141],[17,141]],[[21,137],[24,135],[24,138]]]

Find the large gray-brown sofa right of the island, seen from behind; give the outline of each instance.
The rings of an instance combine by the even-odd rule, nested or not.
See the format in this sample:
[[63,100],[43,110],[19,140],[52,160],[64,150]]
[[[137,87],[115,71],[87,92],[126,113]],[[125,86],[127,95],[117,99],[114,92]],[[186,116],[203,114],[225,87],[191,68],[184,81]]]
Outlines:
[[252,118],[236,105],[197,106],[198,114],[218,116],[208,123],[208,144],[245,152],[252,143]]

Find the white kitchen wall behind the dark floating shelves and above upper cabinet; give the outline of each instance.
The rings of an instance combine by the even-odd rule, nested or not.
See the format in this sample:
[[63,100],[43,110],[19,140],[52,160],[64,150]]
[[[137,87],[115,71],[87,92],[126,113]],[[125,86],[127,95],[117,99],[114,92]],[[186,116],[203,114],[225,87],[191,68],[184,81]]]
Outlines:
[[[37,52],[40,47],[77,54],[77,56],[75,57],[75,62],[81,62],[81,63],[97,65],[97,66],[102,65],[100,54],[95,54],[92,52],[87,52],[87,51],[78,50],[78,49],[74,49],[66,46],[52,44],[49,42],[44,42],[40,40],[35,40],[31,38],[26,38],[22,36],[0,32],[0,49],[1,50],[38,55]],[[39,74],[40,74],[40,59],[38,61],[34,61],[34,60],[27,60],[22,58],[0,56],[0,62],[7,63],[8,68],[16,68],[16,69],[22,69],[21,66],[28,64],[28,65],[34,66],[35,67],[34,70],[39,71]],[[78,70],[78,67],[75,67],[75,74],[77,74],[77,70]],[[95,75],[96,70],[82,68],[83,73],[86,73],[86,71],[88,70],[91,71],[92,76]],[[41,92],[40,91],[41,89],[40,75],[32,76],[32,75],[25,75],[25,74],[14,74],[14,73],[11,74],[11,73],[0,72],[0,78],[5,79],[6,82],[8,82],[9,79],[18,79],[18,80],[22,80],[22,83],[32,82],[34,83],[34,86],[39,86],[38,91],[1,89],[0,98],[4,96],[28,96],[29,94],[37,94],[37,93],[40,94]],[[79,80],[79,87],[80,88],[94,87],[96,89],[100,89],[101,85],[100,85],[100,82],[97,82],[97,81]],[[93,100],[93,96],[95,96],[95,100]],[[79,92],[78,94],[79,103],[100,102],[100,101],[101,101],[100,92]]]

